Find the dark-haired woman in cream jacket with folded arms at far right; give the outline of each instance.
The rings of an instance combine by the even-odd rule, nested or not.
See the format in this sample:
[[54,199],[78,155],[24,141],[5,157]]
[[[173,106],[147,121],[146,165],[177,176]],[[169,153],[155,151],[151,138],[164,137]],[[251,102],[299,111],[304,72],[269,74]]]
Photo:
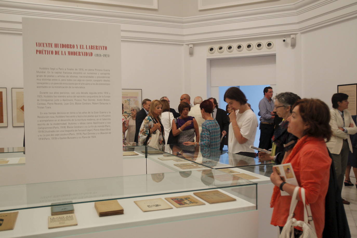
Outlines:
[[[352,151],[350,135],[356,134],[357,128],[353,122],[348,108],[348,95],[345,93],[335,93],[332,96],[332,107],[330,110],[330,125],[332,130],[331,140],[326,143],[328,150],[332,154],[335,164],[336,177],[340,193],[342,191],[343,176],[345,175],[348,151]],[[343,204],[350,204],[343,200]]]

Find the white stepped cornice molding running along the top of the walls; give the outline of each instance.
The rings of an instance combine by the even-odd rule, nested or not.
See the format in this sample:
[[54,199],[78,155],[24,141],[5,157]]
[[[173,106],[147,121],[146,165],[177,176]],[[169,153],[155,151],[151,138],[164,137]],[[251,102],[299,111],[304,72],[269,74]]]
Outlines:
[[357,1],[300,0],[264,11],[187,18],[0,0],[0,15],[5,35],[21,35],[22,17],[39,17],[120,24],[123,42],[183,45],[306,32],[356,18]]

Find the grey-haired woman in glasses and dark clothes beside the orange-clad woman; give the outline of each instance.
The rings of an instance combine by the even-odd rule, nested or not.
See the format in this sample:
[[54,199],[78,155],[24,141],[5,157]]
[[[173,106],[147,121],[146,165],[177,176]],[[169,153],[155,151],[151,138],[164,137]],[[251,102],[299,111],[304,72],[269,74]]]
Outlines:
[[276,145],[275,156],[270,156],[267,153],[259,152],[261,160],[274,160],[277,164],[281,164],[285,153],[290,153],[291,149],[297,142],[297,137],[287,131],[289,122],[287,118],[291,116],[292,105],[301,98],[292,92],[282,92],[275,96],[274,111],[283,121],[275,129],[272,141]]

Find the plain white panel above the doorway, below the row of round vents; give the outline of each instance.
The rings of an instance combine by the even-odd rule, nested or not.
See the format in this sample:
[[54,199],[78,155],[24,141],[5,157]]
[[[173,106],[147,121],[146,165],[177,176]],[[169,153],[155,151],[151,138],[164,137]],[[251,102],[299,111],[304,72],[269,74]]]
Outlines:
[[276,56],[211,60],[211,86],[276,84]]

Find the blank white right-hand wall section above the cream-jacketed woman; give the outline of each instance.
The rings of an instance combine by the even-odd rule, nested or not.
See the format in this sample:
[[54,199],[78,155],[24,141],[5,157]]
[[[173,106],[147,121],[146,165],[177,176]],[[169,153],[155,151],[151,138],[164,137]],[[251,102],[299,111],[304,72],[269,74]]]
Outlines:
[[303,97],[332,108],[337,85],[356,83],[357,19],[302,34]]

